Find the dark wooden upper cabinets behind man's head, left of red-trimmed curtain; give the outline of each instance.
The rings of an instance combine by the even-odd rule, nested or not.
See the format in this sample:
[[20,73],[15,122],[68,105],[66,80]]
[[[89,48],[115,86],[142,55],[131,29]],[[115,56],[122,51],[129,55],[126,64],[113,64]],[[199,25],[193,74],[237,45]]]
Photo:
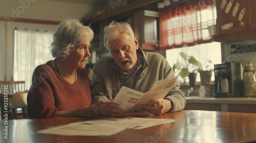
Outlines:
[[94,16],[89,20],[83,19],[83,23],[91,25],[94,31],[94,38],[91,43],[93,47],[96,47],[93,50],[100,55],[99,59],[111,56],[103,44],[103,29],[111,21],[130,23],[142,50],[164,55],[163,52],[158,51],[159,12],[157,4],[158,0],[134,1]]

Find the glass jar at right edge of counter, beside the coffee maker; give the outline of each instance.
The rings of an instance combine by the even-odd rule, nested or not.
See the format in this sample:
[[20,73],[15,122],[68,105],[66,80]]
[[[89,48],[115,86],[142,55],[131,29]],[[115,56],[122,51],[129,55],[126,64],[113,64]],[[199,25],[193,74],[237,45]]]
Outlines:
[[256,96],[255,69],[251,62],[247,62],[244,67],[243,89],[244,96]]

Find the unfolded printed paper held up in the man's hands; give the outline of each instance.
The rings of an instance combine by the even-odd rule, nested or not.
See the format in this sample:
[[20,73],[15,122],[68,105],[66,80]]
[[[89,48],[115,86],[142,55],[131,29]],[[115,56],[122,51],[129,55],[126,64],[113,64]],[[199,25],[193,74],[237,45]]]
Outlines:
[[179,75],[173,79],[159,80],[154,84],[151,90],[145,93],[122,86],[112,102],[118,103],[120,105],[119,108],[125,110],[121,113],[141,109],[140,106],[150,100],[164,98],[170,89],[173,88],[178,77]]

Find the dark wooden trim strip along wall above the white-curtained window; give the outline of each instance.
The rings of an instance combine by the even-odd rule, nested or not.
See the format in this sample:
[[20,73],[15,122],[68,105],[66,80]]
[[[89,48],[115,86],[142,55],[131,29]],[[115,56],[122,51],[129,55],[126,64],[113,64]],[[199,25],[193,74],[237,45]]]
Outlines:
[[15,22],[29,22],[29,23],[41,23],[41,24],[48,24],[48,25],[58,25],[60,21],[50,21],[50,20],[37,20],[37,19],[27,19],[27,18],[12,18],[7,16],[0,16],[0,20],[5,21],[15,21]]

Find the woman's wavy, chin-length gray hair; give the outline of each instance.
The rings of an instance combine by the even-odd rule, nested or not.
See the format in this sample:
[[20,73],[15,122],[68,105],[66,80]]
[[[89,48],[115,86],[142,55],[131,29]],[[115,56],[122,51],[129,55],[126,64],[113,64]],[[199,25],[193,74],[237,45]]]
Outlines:
[[72,18],[62,20],[53,34],[51,54],[54,58],[66,58],[72,47],[79,45],[83,40],[91,41],[94,37],[92,29]]

